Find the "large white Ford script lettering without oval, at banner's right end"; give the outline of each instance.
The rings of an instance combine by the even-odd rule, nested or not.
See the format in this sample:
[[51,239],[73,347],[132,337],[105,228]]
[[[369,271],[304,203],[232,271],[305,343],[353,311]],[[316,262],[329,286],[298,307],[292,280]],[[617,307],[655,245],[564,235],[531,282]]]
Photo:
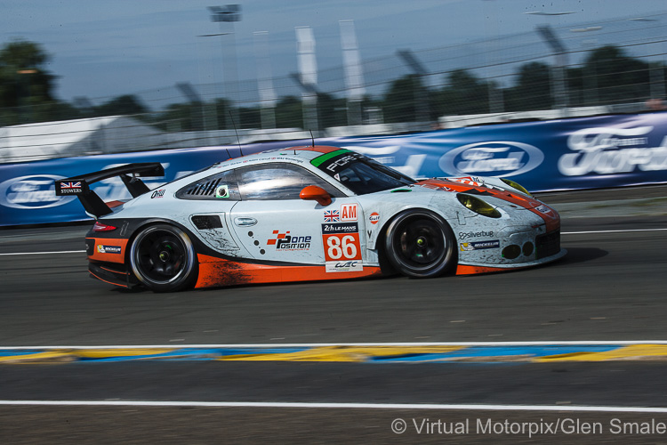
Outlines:
[[579,130],[567,138],[575,153],[559,159],[559,171],[567,176],[667,170],[667,136],[658,147],[649,147],[654,127],[596,127]]

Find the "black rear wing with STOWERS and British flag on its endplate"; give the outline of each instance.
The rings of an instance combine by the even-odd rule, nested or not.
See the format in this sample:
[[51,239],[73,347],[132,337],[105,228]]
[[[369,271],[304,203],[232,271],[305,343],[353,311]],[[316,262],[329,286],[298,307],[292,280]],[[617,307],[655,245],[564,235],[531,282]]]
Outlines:
[[[129,174],[132,174],[130,176]],[[80,174],[72,178],[59,179],[55,181],[56,196],[76,195],[85,211],[94,214],[96,218],[110,214],[112,210],[102,199],[90,189],[90,184],[100,182],[104,179],[120,176],[125,187],[133,198],[148,192],[149,187],[137,176],[164,176],[165,168],[159,162],[141,162],[126,164],[94,172]]]

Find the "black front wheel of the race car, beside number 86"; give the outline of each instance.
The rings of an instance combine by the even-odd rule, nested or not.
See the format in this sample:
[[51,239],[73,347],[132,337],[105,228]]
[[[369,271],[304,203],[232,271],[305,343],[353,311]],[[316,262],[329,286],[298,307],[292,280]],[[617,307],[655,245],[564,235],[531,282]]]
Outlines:
[[391,265],[411,278],[434,278],[456,263],[454,232],[440,216],[412,209],[387,227],[384,251]]

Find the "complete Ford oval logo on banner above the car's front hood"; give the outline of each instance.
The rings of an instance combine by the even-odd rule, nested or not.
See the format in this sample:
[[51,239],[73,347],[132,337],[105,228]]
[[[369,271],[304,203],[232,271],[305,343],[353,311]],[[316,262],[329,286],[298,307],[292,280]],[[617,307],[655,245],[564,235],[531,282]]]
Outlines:
[[475,142],[449,150],[438,166],[447,174],[515,176],[542,164],[544,154],[524,142]]

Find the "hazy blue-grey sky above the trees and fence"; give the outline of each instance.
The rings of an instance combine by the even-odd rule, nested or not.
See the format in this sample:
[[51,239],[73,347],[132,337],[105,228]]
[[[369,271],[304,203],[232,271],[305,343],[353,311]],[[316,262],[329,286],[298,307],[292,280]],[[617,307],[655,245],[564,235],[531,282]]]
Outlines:
[[[230,2],[231,3],[231,2]],[[268,32],[273,76],[297,71],[295,27],[313,29],[317,67],[342,66],[339,20],[354,20],[363,60],[399,49],[424,50],[533,31],[667,12],[665,0],[237,0],[241,21],[210,20],[212,0],[0,0],[0,45],[40,44],[63,101],[204,85],[229,75],[236,48],[239,79],[256,78],[253,33]],[[534,15],[526,12],[573,12]],[[233,31],[233,36],[203,36]],[[223,46],[225,45],[225,46]],[[224,48],[224,49],[223,49]],[[229,65],[226,65],[229,66]],[[227,73],[227,74],[226,74]]]

